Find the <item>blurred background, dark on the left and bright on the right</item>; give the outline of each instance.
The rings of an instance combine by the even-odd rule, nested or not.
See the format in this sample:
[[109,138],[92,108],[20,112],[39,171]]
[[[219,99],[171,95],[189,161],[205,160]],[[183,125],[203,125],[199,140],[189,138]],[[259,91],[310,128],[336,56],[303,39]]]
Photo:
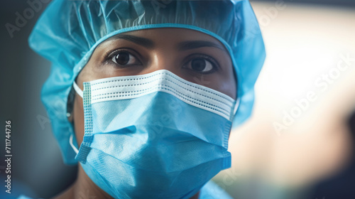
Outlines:
[[[50,198],[76,177],[77,167],[62,163],[40,102],[50,63],[28,48],[31,29],[48,5],[40,3],[32,11],[27,0],[3,1],[0,7],[0,119],[4,126],[12,122],[13,197]],[[251,4],[266,63],[253,116],[229,139],[232,167],[213,180],[241,199],[355,198],[355,1]],[[24,11],[23,26],[9,29],[6,24],[15,24]],[[5,138],[0,149],[4,157]],[[1,184],[5,168],[0,161]],[[0,198],[9,198],[5,190],[1,185]]]

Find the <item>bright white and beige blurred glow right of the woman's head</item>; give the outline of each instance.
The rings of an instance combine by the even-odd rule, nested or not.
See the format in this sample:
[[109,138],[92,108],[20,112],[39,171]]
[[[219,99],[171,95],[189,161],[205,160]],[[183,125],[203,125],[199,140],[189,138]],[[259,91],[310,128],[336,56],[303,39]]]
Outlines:
[[[215,179],[234,198],[287,198],[277,187],[310,185],[349,156],[349,134],[340,124],[355,107],[355,9],[280,1],[252,6],[266,63],[253,117],[229,139],[232,168]],[[277,131],[275,123],[285,128]]]

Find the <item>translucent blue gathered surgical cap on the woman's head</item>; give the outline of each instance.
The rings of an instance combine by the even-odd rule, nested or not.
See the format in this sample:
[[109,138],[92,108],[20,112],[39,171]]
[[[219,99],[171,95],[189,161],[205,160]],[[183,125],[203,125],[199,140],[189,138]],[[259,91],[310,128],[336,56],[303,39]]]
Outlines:
[[35,24],[29,45],[52,63],[41,95],[65,163],[77,163],[69,144],[74,129],[66,117],[75,77],[107,38],[148,28],[187,28],[221,41],[237,78],[234,127],[250,117],[265,48],[249,1],[54,0]]

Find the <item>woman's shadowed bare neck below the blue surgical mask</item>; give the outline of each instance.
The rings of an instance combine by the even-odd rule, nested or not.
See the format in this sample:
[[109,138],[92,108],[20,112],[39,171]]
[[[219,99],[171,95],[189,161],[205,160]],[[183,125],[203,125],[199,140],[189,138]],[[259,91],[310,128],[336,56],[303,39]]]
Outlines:
[[[198,199],[200,191],[190,199]],[[77,180],[64,192],[55,196],[53,199],[80,199],[80,198],[103,198],[112,199],[111,195],[99,188],[85,173],[82,166],[78,165]]]

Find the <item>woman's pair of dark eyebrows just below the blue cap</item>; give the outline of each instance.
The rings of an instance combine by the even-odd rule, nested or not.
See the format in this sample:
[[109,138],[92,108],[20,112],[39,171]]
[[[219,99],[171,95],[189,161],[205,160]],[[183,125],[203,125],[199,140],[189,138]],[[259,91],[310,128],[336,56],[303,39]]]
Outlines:
[[[155,46],[154,42],[148,38],[142,38],[142,37],[130,36],[130,35],[124,35],[124,34],[112,36],[108,40],[111,41],[111,40],[116,40],[116,39],[124,39],[126,41],[131,41],[131,42],[136,43],[138,45],[142,45],[143,47],[148,48],[148,49],[152,49]],[[192,50],[195,48],[203,48],[203,47],[219,48],[220,50],[223,50],[226,52],[226,49],[224,47],[222,47],[221,45],[218,45],[217,43],[213,43],[210,41],[183,41],[181,43],[178,43],[178,45],[177,45],[177,48],[180,51]]]

